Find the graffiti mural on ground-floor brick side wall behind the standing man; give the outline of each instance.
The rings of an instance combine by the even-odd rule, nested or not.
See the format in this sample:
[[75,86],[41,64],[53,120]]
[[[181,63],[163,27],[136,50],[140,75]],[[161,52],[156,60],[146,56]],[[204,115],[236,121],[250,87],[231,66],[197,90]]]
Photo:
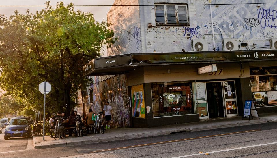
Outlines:
[[[118,75],[99,82],[99,76],[94,77],[93,102],[91,109],[97,113],[103,111],[104,103],[108,101],[112,107],[112,127],[130,127],[130,109],[128,86],[125,75]],[[89,89],[89,87],[88,87]],[[89,90],[88,90],[89,91]],[[88,98],[89,100],[89,98]]]

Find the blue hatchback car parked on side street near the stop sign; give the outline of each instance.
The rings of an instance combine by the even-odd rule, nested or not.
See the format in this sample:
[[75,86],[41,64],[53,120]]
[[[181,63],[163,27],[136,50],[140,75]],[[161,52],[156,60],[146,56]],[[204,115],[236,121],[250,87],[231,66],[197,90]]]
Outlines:
[[5,128],[4,139],[8,140],[11,137],[27,137],[31,138],[31,121],[28,117],[14,117],[8,122]]

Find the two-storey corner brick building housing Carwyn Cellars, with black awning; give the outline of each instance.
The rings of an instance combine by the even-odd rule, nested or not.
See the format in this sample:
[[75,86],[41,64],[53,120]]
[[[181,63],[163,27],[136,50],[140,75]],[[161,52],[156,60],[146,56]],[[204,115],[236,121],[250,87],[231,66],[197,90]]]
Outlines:
[[243,115],[246,100],[277,111],[274,2],[116,0],[107,20],[118,40],[84,67],[87,105],[111,101],[118,127]]

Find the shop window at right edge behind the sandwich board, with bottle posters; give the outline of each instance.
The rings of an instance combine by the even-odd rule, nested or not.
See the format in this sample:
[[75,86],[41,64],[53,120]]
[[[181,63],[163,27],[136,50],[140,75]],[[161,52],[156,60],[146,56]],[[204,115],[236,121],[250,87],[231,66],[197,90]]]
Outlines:
[[250,68],[250,75],[255,106],[277,105],[277,67]]

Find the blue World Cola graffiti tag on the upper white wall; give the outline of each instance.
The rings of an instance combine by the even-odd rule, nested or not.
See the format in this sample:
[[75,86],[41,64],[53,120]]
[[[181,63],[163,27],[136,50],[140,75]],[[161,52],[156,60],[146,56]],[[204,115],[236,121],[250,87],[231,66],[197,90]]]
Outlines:
[[261,27],[277,28],[275,19],[277,19],[277,11],[274,9],[257,9],[258,19],[260,19]]

